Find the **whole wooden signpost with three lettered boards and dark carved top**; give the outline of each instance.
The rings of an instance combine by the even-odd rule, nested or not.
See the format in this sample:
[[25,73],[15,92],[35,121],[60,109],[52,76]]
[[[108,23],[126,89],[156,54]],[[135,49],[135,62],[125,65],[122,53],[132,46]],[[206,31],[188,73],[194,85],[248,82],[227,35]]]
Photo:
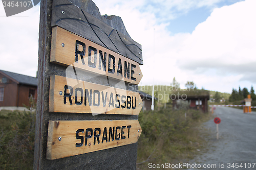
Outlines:
[[136,169],[141,45],[88,3],[40,3],[34,169]]

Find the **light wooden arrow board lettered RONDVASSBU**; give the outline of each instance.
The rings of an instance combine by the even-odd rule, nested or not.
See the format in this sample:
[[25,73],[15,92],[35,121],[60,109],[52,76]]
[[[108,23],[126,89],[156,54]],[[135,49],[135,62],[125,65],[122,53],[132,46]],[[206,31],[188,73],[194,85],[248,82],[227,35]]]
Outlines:
[[50,112],[138,115],[142,106],[140,94],[135,91],[51,76]]

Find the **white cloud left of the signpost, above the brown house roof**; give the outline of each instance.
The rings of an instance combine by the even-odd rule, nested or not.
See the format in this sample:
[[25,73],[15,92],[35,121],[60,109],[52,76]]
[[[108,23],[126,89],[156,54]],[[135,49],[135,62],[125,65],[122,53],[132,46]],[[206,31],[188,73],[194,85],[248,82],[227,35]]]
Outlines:
[[38,61],[39,5],[10,17],[5,17],[2,5],[0,11],[0,69],[35,77]]

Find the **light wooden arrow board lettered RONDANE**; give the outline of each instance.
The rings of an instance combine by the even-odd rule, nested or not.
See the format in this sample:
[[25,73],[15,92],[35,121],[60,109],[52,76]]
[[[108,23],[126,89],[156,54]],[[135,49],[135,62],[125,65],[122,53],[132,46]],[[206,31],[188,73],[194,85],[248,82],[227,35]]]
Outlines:
[[52,29],[51,62],[139,84],[137,62],[60,27]]

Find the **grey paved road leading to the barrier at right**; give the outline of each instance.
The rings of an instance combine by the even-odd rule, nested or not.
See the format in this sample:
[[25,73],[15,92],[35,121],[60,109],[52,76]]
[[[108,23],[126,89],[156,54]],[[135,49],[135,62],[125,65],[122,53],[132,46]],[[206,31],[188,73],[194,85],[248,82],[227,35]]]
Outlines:
[[[191,164],[216,164],[216,168],[188,168],[188,169],[255,169],[256,164],[256,112],[244,114],[243,110],[229,107],[216,107],[215,117],[221,118],[219,124],[219,140],[216,139],[216,124],[211,119],[204,124],[211,135],[208,151],[196,159],[189,161]],[[224,168],[220,168],[220,164]],[[230,163],[230,164],[228,164]],[[232,167],[234,163],[234,167]],[[237,165],[243,167],[236,168]],[[246,165],[246,167],[245,167]],[[248,166],[251,167],[249,168]],[[209,165],[208,165],[209,167]],[[223,167],[223,166],[222,166]]]

